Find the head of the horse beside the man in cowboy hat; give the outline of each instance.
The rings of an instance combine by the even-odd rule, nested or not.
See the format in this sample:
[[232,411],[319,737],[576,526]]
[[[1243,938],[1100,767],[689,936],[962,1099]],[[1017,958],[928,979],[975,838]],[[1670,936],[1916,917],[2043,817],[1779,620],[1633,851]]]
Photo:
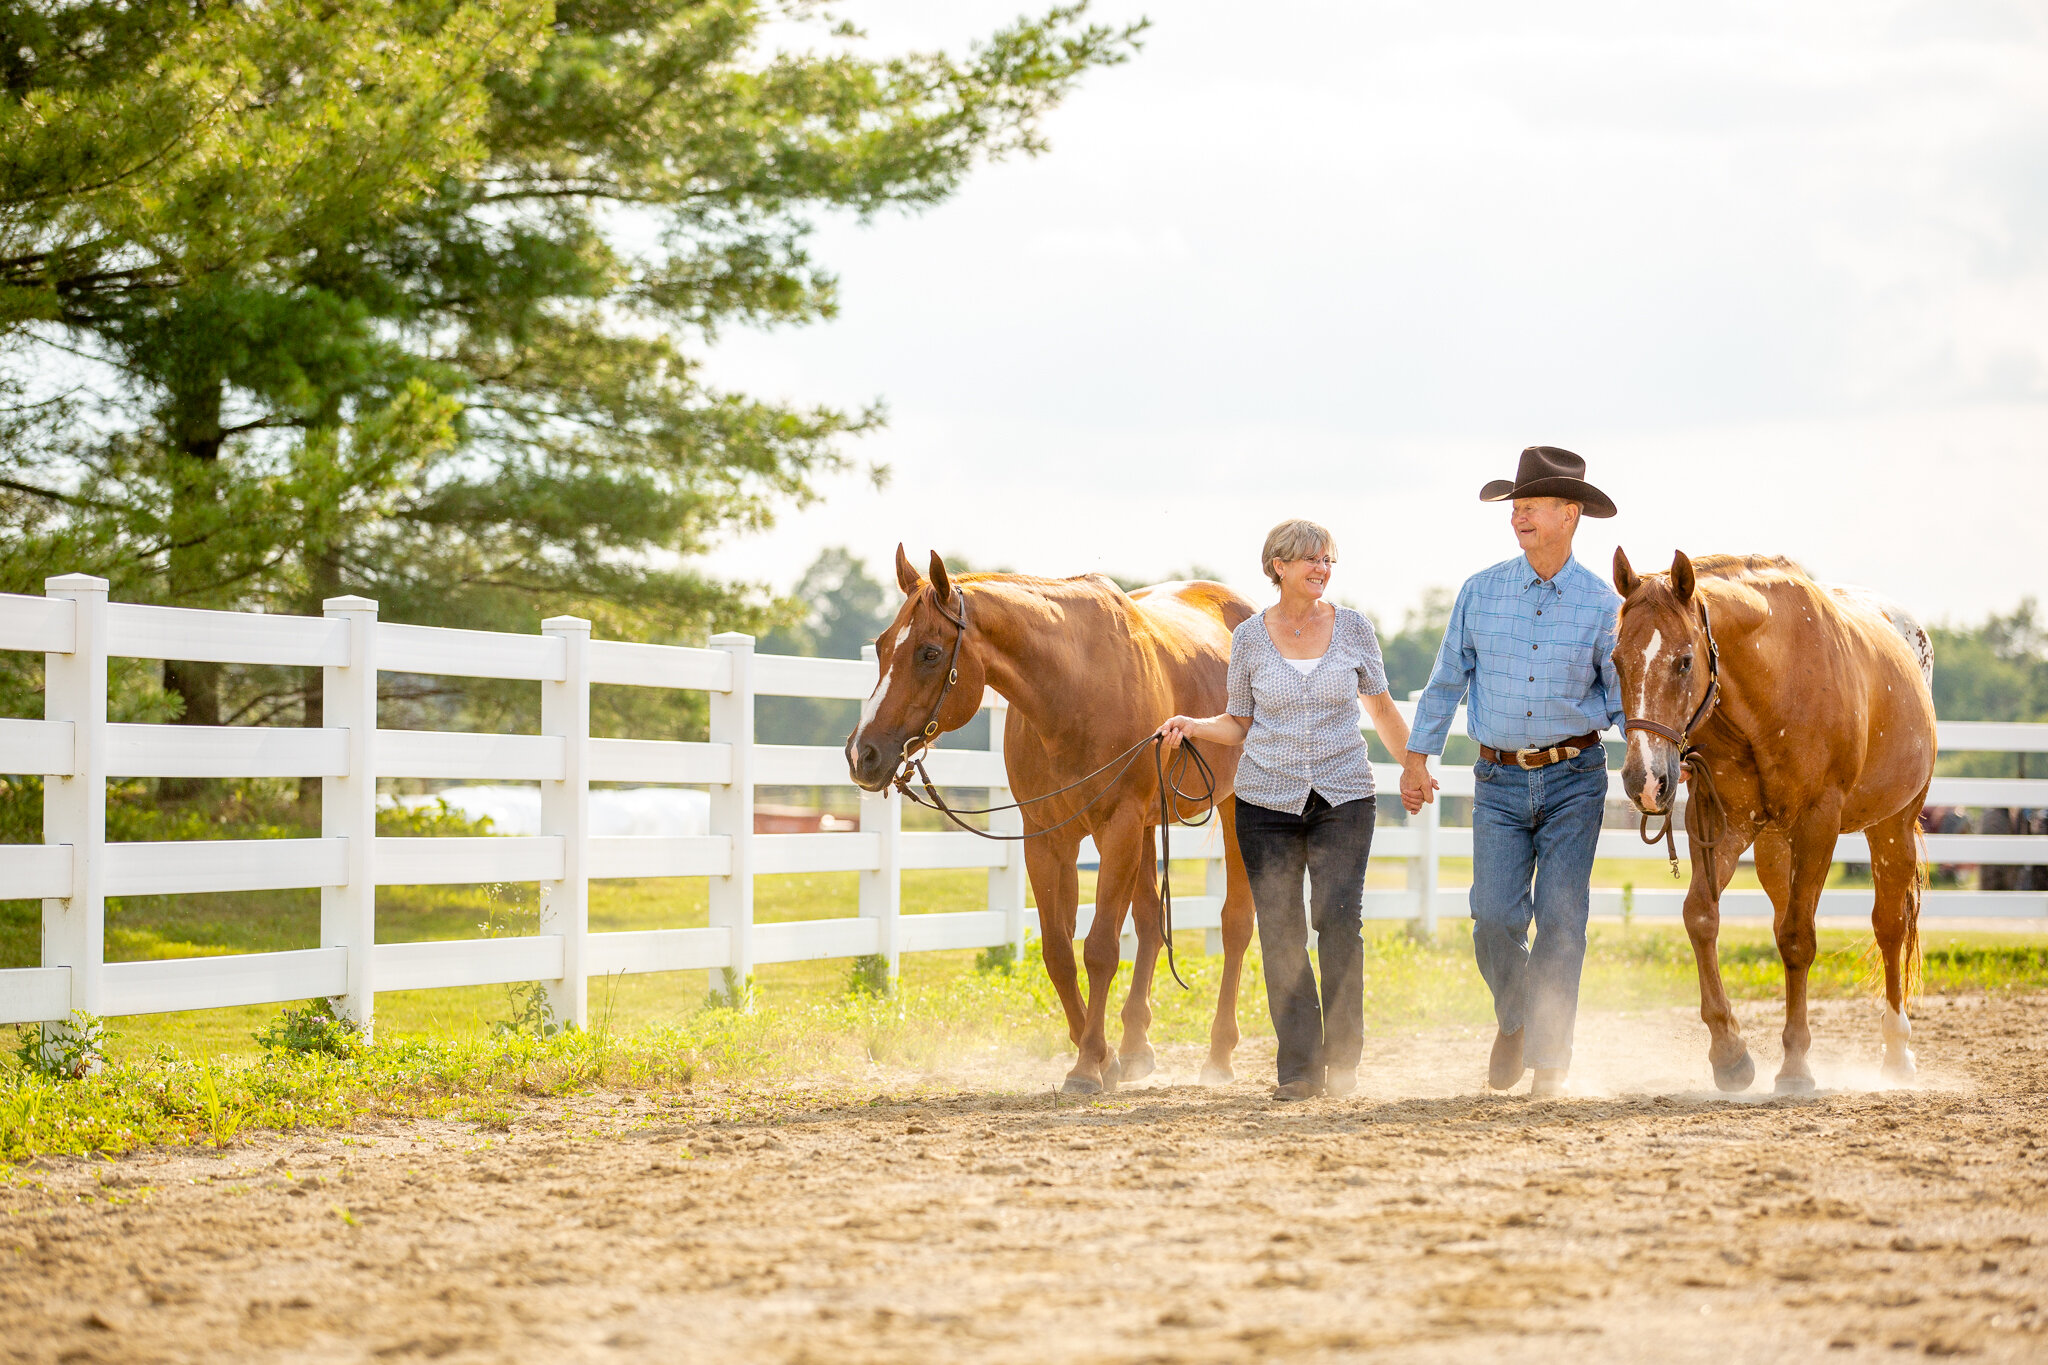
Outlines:
[[1671,573],[1638,577],[1616,546],[1614,587],[1622,593],[1614,671],[1628,714],[1622,790],[1642,814],[1663,814],[1677,800],[1692,726],[1710,708],[1714,639],[1686,551],[1671,557]]

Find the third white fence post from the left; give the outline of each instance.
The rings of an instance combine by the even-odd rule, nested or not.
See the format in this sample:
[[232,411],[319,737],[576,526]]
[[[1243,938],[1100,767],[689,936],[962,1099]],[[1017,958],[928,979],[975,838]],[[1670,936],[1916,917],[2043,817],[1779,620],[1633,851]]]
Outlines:
[[541,784],[541,833],[561,837],[561,880],[541,888],[541,933],[561,935],[561,980],[547,1003],[557,1023],[590,1023],[590,622],[549,616],[541,634],[561,636],[561,681],[541,684],[541,733],[559,735],[561,782]]

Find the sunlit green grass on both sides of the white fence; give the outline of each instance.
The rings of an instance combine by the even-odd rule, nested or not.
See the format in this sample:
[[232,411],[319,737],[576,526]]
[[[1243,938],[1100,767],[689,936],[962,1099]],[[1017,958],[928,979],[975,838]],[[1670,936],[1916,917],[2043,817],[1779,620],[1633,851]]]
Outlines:
[[[1608,866],[1608,884],[1618,884],[1618,872],[1653,884],[1642,864]],[[1399,864],[1382,864],[1370,882],[1399,886],[1401,878]],[[1083,876],[1083,898],[1092,898],[1092,882]],[[1176,864],[1176,882],[1198,888],[1200,866]],[[592,886],[592,929],[702,925],[707,894],[702,878],[600,882]],[[903,898],[920,913],[981,909],[987,878],[911,872]],[[854,907],[850,872],[756,884],[762,923],[852,915]],[[535,919],[530,886],[399,886],[379,894],[379,933],[387,941],[530,933]],[[317,927],[315,892],[129,898],[109,905],[106,943],[111,960],[264,952],[311,948]],[[37,902],[0,902],[0,966],[35,964],[39,933]],[[1812,993],[1870,993],[1868,941],[1868,933],[1823,929]],[[1196,931],[1180,933],[1176,950],[1194,988],[1180,990],[1161,970],[1153,1038],[1200,1044],[1221,958],[1202,954]],[[1767,929],[1726,929],[1720,960],[1733,995],[1782,993]],[[850,990],[850,968],[766,966],[756,978],[756,1009],[745,1013],[707,1007],[705,972],[598,980],[594,1025],[547,1040],[502,1029],[516,1011],[506,986],[385,993],[377,997],[377,1046],[348,1058],[264,1052],[252,1036],[279,1017],[279,1007],[268,1005],[115,1019],[109,1066],[96,1076],[53,1083],[23,1072],[18,1062],[0,1062],[0,1160],[231,1142],[238,1132],[334,1128],[362,1115],[455,1115],[492,1128],[508,1121],[508,1105],[520,1095],[592,1085],[674,1093],[698,1078],[860,1076],[877,1064],[922,1070],[975,1056],[1051,1062],[1069,1048],[1036,952],[1012,972],[977,972],[973,952],[907,956],[887,997]],[[1491,1017],[1466,921],[1446,921],[1427,943],[1401,925],[1368,925],[1364,976],[1366,1023],[1380,1036]],[[1925,988],[2048,988],[2048,943],[2030,933],[1933,929]],[[1593,925],[1581,990],[1587,1009],[1690,1007],[1696,990],[1692,948],[1675,925]],[[1270,1033],[1255,945],[1239,1023],[1247,1036]]]

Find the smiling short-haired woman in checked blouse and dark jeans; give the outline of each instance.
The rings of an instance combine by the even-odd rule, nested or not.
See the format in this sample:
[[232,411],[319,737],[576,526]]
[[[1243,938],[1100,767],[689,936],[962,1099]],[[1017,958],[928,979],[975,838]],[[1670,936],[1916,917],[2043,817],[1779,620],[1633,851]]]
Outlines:
[[[1280,1036],[1274,1099],[1350,1095],[1364,1048],[1364,939],[1360,902],[1372,853],[1372,761],[1358,733],[1358,702],[1395,753],[1407,722],[1386,696],[1386,667],[1372,622],[1323,602],[1337,544],[1315,522],[1280,522],[1266,534],[1266,577],[1280,602],[1231,636],[1229,712],[1174,716],[1159,735],[1243,745],[1237,761],[1237,847],[1251,878],[1266,958],[1266,1001]],[[1321,999],[1309,968],[1309,925],[1323,968]]]

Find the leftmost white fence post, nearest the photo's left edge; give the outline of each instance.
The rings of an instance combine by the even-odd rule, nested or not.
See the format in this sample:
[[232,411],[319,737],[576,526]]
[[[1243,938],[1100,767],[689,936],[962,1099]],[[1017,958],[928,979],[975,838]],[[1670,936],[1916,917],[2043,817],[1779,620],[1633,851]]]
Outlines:
[[[76,604],[68,655],[43,655],[43,716],[72,722],[72,776],[43,782],[43,843],[72,845],[72,894],[43,902],[43,966],[72,968],[72,1009],[104,1013],[106,579],[66,573],[43,591]],[[55,1025],[61,1036],[63,1025]],[[51,1042],[51,1027],[43,1038]]]

